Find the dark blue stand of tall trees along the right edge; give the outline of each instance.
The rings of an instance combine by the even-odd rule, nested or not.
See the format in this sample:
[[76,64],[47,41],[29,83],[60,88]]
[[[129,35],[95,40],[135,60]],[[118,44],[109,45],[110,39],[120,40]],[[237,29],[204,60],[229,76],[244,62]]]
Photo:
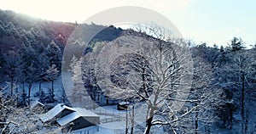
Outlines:
[[218,108],[218,125],[239,133],[255,132],[255,47],[245,45],[241,38],[234,37],[228,47],[201,44],[193,48],[211,64],[213,87],[224,90],[226,103]]

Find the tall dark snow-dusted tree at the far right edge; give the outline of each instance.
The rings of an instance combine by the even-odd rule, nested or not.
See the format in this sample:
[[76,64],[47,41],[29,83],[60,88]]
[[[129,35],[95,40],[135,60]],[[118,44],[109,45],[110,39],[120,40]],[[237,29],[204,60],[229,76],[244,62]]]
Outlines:
[[[253,50],[251,50],[253,51]],[[231,61],[227,68],[230,75],[229,82],[230,88],[234,91],[234,100],[241,114],[241,133],[247,133],[250,126],[248,126],[250,114],[247,112],[249,107],[247,103],[252,99],[249,94],[253,92],[253,61],[255,60],[255,54],[248,54],[249,50],[237,50],[231,52]],[[253,53],[253,52],[251,52]],[[251,126],[252,127],[252,126]]]

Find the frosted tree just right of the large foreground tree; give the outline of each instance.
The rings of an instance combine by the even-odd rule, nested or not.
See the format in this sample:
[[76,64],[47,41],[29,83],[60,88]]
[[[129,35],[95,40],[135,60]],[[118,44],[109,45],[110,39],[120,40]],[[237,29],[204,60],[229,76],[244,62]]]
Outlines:
[[223,89],[216,87],[218,83],[215,81],[212,73],[212,65],[204,59],[204,54],[198,47],[194,48],[194,75],[192,89],[189,95],[189,105],[197,107],[192,114],[191,120],[194,120],[195,133],[202,132],[199,128],[205,126],[204,132],[210,132],[208,125],[218,121],[218,109],[224,104]]

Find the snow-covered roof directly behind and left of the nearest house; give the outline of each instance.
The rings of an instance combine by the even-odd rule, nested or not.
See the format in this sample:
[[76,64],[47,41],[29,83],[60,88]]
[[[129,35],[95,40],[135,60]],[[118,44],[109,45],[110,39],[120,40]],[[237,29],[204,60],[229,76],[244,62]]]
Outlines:
[[40,120],[42,120],[43,122],[52,120],[55,118],[56,115],[60,114],[61,111],[63,111],[64,109],[70,109],[74,111],[73,108],[70,108],[70,107],[67,107],[66,105],[58,103],[57,105],[55,105],[53,109],[50,109],[47,113],[43,114]]

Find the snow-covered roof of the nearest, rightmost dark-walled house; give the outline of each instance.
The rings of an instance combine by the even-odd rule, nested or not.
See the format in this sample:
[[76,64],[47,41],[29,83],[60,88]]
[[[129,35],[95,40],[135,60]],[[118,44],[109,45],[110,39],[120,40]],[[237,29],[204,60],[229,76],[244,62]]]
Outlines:
[[57,120],[57,123],[60,126],[66,126],[68,123],[72,122],[73,120],[78,119],[79,117],[100,117],[99,115],[97,115],[87,109],[83,109],[83,108],[72,108],[72,109],[75,112],[73,112],[71,114],[67,114],[66,116]]

